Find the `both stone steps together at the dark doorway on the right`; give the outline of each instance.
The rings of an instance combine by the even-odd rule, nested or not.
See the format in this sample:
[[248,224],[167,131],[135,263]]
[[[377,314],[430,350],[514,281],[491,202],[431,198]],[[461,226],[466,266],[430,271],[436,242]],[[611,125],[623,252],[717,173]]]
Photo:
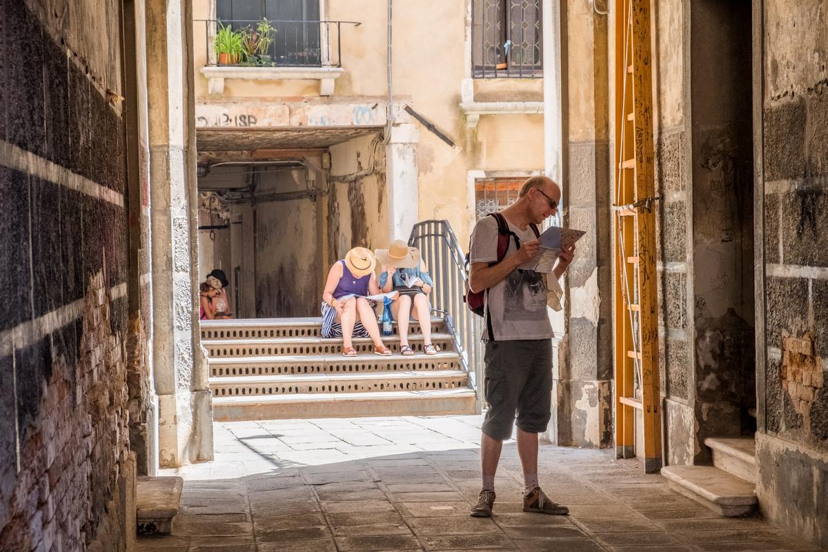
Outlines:
[[756,441],[753,437],[709,438],[712,466],[667,466],[662,475],[677,492],[722,516],[756,513]]

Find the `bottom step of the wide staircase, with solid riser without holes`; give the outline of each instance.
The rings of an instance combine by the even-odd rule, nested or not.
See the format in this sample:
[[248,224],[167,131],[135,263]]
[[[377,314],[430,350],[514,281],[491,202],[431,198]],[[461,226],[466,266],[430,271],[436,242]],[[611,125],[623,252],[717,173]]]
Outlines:
[[223,396],[213,399],[213,418],[286,420],[391,415],[474,414],[474,391],[468,387],[438,391],[374,393],[300,393],[269,396]]

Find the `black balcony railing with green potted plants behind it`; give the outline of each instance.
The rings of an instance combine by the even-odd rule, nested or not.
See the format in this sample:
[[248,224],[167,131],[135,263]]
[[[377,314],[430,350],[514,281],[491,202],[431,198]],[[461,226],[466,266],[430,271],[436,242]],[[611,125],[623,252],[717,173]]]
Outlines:
[[342,29],[359,25],[349,21],[197,19],[195,36],[196,40],[204,37],[207,66],[341,67]]

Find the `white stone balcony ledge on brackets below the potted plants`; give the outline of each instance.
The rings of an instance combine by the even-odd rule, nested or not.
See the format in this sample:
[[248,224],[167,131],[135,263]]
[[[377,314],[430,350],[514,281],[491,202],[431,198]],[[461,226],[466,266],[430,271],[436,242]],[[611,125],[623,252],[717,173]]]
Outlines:
[[334,94],[334,81],[343,74],[341,67],[244,67],[209,65],[201,68],[208,79],[210,95],[224,94],[224,79],[243,80],[318,80],[320,96]]

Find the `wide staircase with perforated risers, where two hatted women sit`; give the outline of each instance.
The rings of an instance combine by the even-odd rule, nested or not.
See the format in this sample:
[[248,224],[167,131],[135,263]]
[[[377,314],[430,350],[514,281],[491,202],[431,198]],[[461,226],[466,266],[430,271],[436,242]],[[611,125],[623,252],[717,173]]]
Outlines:
[[214,420],[277,420],[369,415],[474,414],[469,375],[442,319],[432,319],[431,343],[422,353],[417,324],[399,353],[397,326],[380,357],[371,340],[354,339],[357,356],[342,355],[341,339],[320,337],[321,320],[202,320],[201,344],[209,357]]

